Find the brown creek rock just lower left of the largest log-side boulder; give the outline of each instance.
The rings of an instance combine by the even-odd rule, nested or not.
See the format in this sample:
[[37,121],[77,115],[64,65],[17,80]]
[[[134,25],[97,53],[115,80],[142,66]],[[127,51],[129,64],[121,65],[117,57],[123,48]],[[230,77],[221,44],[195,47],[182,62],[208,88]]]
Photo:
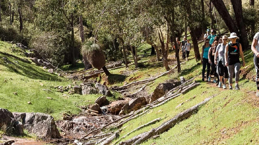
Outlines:
[[125,115],[127,113],[130,113],[131,111],[139,110],[142,106],[146,104],[147,102],[145,97],[133,99],[121,108],[119,115]]

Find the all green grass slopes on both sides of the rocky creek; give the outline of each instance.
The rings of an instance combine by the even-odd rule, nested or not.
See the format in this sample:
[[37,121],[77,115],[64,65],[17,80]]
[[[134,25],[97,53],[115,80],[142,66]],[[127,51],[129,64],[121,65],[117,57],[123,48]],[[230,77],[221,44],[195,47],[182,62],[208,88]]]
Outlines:
[[[12,49],[14,48],[11,44],[0,42],[1,52],[7,52],[20,58],[24,57],[20,55],[21,51]],[[139,51],[140,53],[143,53],[143,50],[149,52],[149,49],[148,46],[142,46]],[[159,137],[149,139],[142,144],[259,144],[259,98],[255,97],[256,87],[255,83],[251,81],[255,76],[255,71],[250,52],[250,50],[245,52],[246,66],[241,68],[242,73],[239,83],[241,90],[236,91],[219,89],[215,87],[215,84],[201,82],[202,66],[195,62],[194,52],[191,50],[190,60],[181,65],[182,71],[180,74],[175,71],[163,76],[146,84],[146,89],[148,93],[152,93],[159,83],[169,79],[178,79],[180,76],[184,76],[186,79],[198,76],[196,81],[200,82],[201,85],[190,90],[187,94],[127,122],[121,127],[123,129],[120,136],[113,143],[130,139],[158,127],[205,98],[216,95],[190,118],[172,126],[167,132],[160,134]],[[145,56],[140,61],[139,68],[130,65],[127,69],[111,70],[110,73],[114,75],[108,78],[102,75],[102,82],[109,80],[113,81],[109,86],[122,86],[125,83],[158,76],[165,71],[165,68],[161,62],[155,61],[155,57]],[[176,65],[174,57],[174,52],[170,52],[170,67]],[[93,103],[100,96],[59,93],[54,89],[55,86],[68,86],[73,82],[49,74],[33,63],[30,64],[2,53],[0,53],[0,75],[0,107],[12,112],[44,112],[60,119],[62,113],[65,112],[79,113],[79,106]],[[140,88],[141,85],[136,87]],[[130,91],[134,93],[136,89]],[[53,100],[49,100],[47,97],[51,97]],[[32,104],[27,104],[28,101]],[[156,118],[161,118],[161,120],[121,138],[128,132]]]

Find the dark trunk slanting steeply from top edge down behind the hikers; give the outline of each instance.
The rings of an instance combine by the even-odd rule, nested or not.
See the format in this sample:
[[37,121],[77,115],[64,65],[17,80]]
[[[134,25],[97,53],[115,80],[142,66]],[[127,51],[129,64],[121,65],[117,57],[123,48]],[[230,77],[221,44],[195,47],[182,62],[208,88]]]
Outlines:
[[234,23],[234,20],[231,18],[224,2],[222,0],[211,0],[214,7],[217,9],[225,24],[227,25],[230,32],[235,32],[238,34],[238,29]]

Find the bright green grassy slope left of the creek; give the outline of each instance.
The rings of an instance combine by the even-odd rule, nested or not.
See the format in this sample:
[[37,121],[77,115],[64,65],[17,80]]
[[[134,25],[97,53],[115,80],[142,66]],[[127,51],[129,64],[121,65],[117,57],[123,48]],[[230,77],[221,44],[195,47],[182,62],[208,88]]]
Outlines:
[[[59,93],[56,86],[72,81],[50,74],[34,63],[22,61],[22,51],[12,44],[0,42],[0,107],[11,112],[42,112],[61,119],[63,113],[77,114],[80,106],[93,103],[100,95],[69,95]],[[80,82],[78,82],[80,83]],[[48,99],[47,97],[52,98]],[[27,102],[31,102],[28,104]]]

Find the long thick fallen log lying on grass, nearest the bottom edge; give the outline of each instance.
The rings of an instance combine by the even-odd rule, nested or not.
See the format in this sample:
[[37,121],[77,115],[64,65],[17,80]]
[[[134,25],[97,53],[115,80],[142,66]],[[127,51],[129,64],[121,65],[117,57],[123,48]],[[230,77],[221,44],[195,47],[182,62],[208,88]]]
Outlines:
[[204,105],[205,103],[207,103],[211,98],[215,97],[215,95],[206,98],[204,101],[198,103],[197,105],[177,114],[174,118],[164,122],[162,125],[158,126],[157,128],[153,128],[148,132],[144,132],[141,133],[131,139],[128,139],[126,141],[120,142],[119,144],[121,145],[126,145],[126,144],[139,144],[147,139],[149,139],[150,137],[154,136],[154,135],[158,135],[163,133],[164,131],[168,130],[169,128],[173,127],[176,123],[187,119],[188,117],[190,117],[193,113],[195,113],[196,111],[198,111],[199,107]]

